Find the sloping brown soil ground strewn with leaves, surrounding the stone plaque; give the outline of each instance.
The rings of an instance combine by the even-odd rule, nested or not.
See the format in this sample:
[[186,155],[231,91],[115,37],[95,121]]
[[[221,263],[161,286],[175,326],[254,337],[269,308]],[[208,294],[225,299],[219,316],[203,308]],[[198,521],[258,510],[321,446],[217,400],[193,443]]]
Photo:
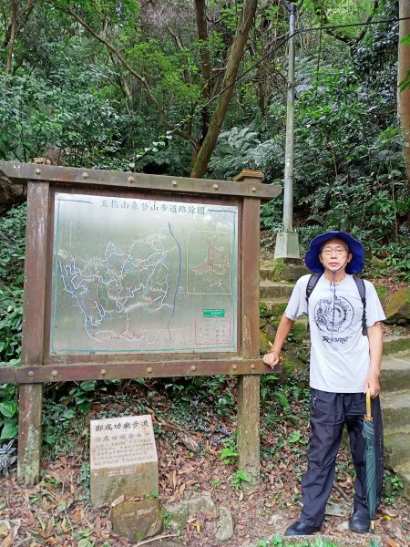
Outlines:
[[[108,506],[99,510],[90,506],[87,423],[89,418],[144,411],[154,420],[163,508],[187,496],[210,492],[217,506],[231,511],[234,521],[234,535],[223,543],[226,547],[250,545],[284,532],[300,511],[300,479],[306,465],[308,431],[305,404],[302,398],[299,403],[294,400],[297,389],[293,389],[293,395],[289,393],[292,408],[275,420],[278,409],[274,402],[262,402],[261,485],[250,493],[235,485],[235,466],[220,459],[221,449],[230,446],[234,439],[235,415],[227,414],[227,408],[234,409],[235,380],[221,380],[219,390],[220,397],[232,394],[232,406],[218,407],[195,394],[184,404],[183,398],[174,397],[162,382],[154,380],[144,385],[130,381],[122,384],[117,393],[100,393],[87,417],[79,419],[71,429],[63,427],[63,439],[56,439],[53,447],[46,448],[39,484],[22,488],[16,483],[15,472],[0,479],[0,520],[9,520],[15,526],[14,542],[6,541],[5,532],[3,537],[0,535],[2,547],[131,545],[112,531]],[[193,450],[196,446],[198,451]],[[353,541],[357,535],[346,530],[354,487],[348,452],[343,445],[331,499],[336,510],[332,512],[341,516],[327,515],[323,533]],[[160,535],[171,536],[167,541],[188,547],[220,545],[215,540],[215,517],[207,512],[190,515],[178,536],[171,530]],[[384,499],[376,515],[376,531],[389,547],[409,545],[410,503],[401,498]],[[8,537],[11,539],[11,534]]]

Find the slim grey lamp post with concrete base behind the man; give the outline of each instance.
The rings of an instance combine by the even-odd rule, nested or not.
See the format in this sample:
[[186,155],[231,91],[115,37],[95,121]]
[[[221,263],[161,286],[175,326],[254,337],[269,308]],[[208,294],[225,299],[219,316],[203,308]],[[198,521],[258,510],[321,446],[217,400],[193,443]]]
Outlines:
[[286,110],[286,147],[283,180],[283,221],[282,232],[276,236],[275,258],[300,258],[298,234],[293,230],[293,150],[294,150],[294,30],[297,10],[303,0],[296,4],[283,0],[289,12],[289,64],[288,94]]

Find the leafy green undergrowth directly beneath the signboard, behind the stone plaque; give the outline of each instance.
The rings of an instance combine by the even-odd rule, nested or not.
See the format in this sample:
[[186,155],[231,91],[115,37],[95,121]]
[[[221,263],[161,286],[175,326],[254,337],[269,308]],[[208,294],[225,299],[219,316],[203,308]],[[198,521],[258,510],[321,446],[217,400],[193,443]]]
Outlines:
[[[278,383],[273,375],[261,377],[261,436],[270,439],[261,444],[262,459],[270,459],[285,447],[298,453],[307,443],[305,429],[309,415],[307,378],[296,375]],[[82,453],[90,417],[111,418],[132,413],[154,417],[154,430],[169,441],[178,427],[198,434],[200,454],[205,443],[220,450],[227,464],[237,460],[236,397],[237,378],[217,376],[173,377],[167,379],[92,380],[46,384],[44,390],[45,455],[57,459],[62,453]],[[284,422],[292,424],[292,433],[283,437]],[[227,424],[230,424],[227,426]],[[173,428],[173,427],[176,428]],[[272,435],[276,439],[272,445]]]

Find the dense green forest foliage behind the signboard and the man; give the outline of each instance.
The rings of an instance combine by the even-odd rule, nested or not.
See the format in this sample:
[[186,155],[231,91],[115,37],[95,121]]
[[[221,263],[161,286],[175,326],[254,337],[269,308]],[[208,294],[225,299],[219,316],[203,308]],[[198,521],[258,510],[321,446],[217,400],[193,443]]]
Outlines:
[[[74,167],[190,175],[223,94],[245,5],[0,0],[0,160],[49,155]],[[391,268],[408,280],[397,15],[394,0],[302,5],[294,222],[302,251],[319,232],[346,230],[383,261],[381,273]],[[282,183],[287,30],[279,0],[258,3],[205,178],[231,179],[248,168]],[[276,232],[281,219],[281,198],[262,204],[263,230]],[[25,206],[0,223],[0,361],[16,364]],[[1,435],[8,439],[15,433],[13,388],[3,394]]]

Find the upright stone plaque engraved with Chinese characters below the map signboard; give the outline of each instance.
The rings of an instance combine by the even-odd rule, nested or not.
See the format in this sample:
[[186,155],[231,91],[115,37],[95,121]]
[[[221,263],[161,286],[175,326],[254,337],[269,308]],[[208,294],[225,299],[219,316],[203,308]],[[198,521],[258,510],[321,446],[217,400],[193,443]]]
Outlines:
[[149,415],[90,420],[90,490],[95,506],[121,495],[158,494],[158,456]]

